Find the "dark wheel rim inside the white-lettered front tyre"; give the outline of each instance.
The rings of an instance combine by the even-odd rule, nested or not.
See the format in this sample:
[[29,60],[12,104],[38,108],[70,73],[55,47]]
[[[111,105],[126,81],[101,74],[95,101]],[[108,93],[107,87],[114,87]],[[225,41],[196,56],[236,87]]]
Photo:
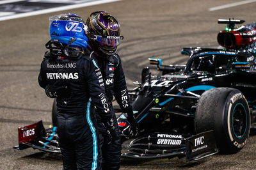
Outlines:
[[235,105],[231,117],[232,131],[238,139],[242,139],[246,134],[247,114],[244,105],[238,103]]

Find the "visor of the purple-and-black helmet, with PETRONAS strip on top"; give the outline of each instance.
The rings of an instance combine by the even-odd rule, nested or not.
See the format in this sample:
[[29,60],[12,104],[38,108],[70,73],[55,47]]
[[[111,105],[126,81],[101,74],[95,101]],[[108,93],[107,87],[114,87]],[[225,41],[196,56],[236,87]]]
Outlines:
[[116,48],[120,45],[121,40],[124,39],[123,36],[100,36],[100,35],[93,35],[93,40],[96,40],[100,43],[100,45],[106,45],[109,48]]

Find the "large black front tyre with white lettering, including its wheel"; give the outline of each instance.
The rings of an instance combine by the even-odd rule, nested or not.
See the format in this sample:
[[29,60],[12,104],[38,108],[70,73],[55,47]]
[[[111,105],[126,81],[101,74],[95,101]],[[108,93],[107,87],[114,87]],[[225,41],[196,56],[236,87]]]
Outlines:
[[233,88],[205,91],[196,105],[195,130],[196,133],[214,130],[221,153],[241,150],[250,131],[250,111],[241,91]]

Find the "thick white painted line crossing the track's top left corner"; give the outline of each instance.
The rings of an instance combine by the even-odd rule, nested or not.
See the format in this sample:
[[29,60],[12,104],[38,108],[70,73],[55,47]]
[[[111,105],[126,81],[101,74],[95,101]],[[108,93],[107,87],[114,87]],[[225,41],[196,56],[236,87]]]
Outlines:
[[17,15],[10,15],[10,16],[6,16],[6,17],[1,17],[1,20],[10,20],[10,19],[19,19],[22,17],[29,17],[29,16],[33,16],[33,15],[41,15],[41,14],[45,14],[45,13],[52,13],[52,12],[60,12],[63,10],[71,10],[71,9],[75,9],[75,8],[81,8],[81,7],[85,7],[85,6],[93,6],[96,4],[104,4],[104,3],[111,3],[111,2],[115,2],[115,1],[122,1],[122,0],[102,0],[102,1],[92,1],[89,3],[82,3],[82,4],[71,4],[71,5],[67,5],[67,6],[60,6],[60,7],[56,7],[56,8],[49,8],[49,9],[45,9],[45,10],[38,10],[35,12],[28,12],[28,13],[19,13]]

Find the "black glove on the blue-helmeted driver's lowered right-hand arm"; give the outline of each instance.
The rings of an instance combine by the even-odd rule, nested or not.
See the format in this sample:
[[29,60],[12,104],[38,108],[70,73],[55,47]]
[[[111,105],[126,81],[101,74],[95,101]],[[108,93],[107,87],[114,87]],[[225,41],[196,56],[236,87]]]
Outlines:
[[116,134],[116,129],[113,123],[113,119],[106,121],[103,123],[104,127],[106,127],[107,132],[106,132],[106,143],[111,144],[112,141],[115,141],[115,139],[118,138],[118,134]]

